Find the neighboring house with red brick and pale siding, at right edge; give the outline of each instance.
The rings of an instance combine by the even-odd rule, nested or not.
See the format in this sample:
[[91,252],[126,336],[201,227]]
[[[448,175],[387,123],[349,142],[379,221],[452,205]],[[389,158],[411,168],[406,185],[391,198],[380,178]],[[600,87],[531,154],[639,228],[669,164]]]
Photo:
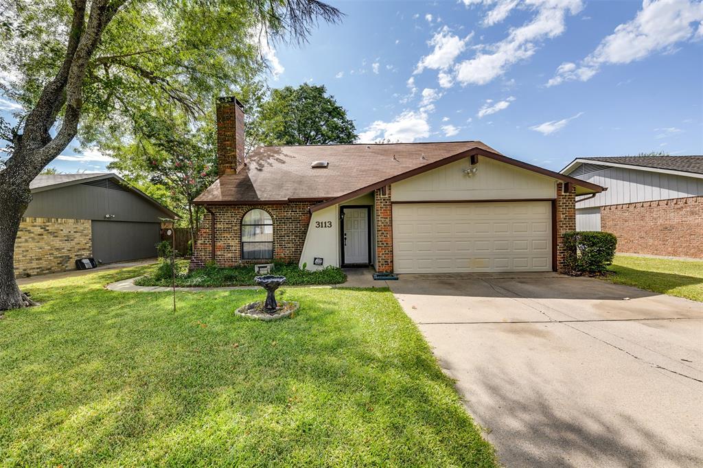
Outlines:
[[614,233],[618,252],[703,258],[703,156],[581,157],[562,174],[608,189],[576,199],[576,229]]

